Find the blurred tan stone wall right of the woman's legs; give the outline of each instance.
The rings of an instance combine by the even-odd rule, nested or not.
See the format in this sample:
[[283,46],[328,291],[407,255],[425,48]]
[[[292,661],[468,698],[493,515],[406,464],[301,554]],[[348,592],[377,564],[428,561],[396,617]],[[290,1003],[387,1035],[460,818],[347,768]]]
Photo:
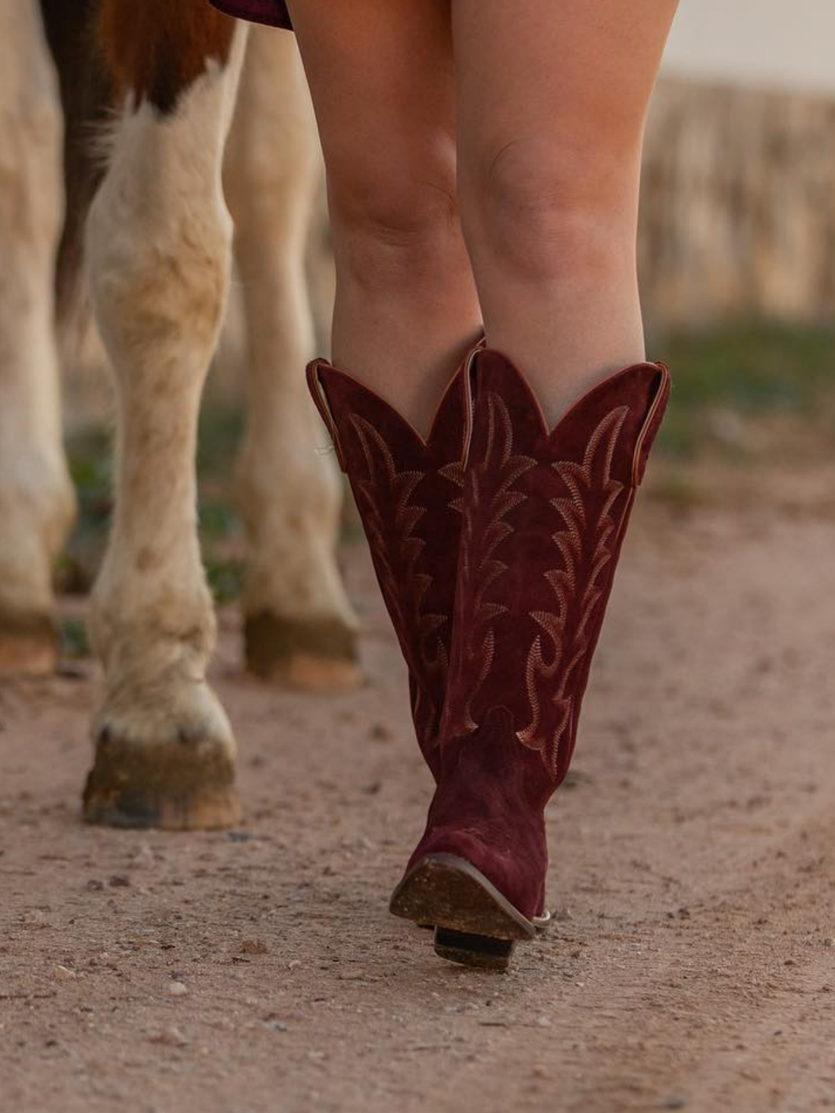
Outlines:
[[835,98],[659,81],[639,256],[650,327],[829,317]]

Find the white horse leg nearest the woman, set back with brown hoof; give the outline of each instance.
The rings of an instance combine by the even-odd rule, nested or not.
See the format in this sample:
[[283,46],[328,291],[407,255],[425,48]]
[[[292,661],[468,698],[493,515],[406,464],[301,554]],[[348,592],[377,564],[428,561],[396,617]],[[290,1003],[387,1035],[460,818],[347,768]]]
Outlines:
[[314,354],[305,250],[322,174],[292,36],[254,29],[225,166],[248,327],[238,495],[249,542],[246,657],[296,687],[356,683],[356,620],[335,546],[342,486],[304,383]]

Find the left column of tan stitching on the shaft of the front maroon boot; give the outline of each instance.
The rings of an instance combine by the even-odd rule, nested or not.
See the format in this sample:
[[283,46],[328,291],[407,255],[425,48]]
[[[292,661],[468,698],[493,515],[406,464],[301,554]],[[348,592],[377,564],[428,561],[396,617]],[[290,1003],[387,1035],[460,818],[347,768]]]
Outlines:
[[[473,716],[473,701],[487,680],[495,653],[495,632],[492,621],[508,608],[503,603],[491,602],[488,598],[495,581],[508,570],[508,565],[495,556],[499,548],[513,533],[513,526],[505,521],[507,515],[528,498],[514,491],[514,484],[536,466],[530,456],[514,455],[513,425],[510,413],[500,395],[490,393],[487,397],[488,436],[483,456],[471,461],[466,473],[468,498],[464,499],[464,515],[461,536],[461,599],[464,603],[456,621],[468,631],[463,646],[463,660],[458,663],[459,673],[475,672],[472,683],[466,684],[468,696],[463,707],[448,706],[444,712],[442,735],[470,735],[478,729]],[[498,472],[499,482],[493,493],[488,482]],[[484,515],[480,513],[482,501],[490,512],[489,524],[481,533],[478,523]],[[468,601],[472,603],[468,605]]]

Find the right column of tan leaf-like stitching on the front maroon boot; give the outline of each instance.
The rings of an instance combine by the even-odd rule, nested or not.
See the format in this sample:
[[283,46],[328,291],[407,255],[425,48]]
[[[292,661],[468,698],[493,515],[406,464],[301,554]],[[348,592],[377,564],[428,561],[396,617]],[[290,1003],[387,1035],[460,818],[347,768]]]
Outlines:
[[[628,412],[627,406],[620,406],[603,417],[589,440],[582,464],[551,464],[569,492],[568,496],[550,500],[563,523],[551,539],[562,558],[562,568],[544,573],[557,599],[556,613],[530,612],[541,632],[533,639],[525,666],[531,721],[517,731],[517,738],[540,754],[554,777],[562,740],[570,739],[577,726],[576,692],[571,686],[588,652],[589,623],[605,590],[600,585],[601,577],[613,558],[610,542],[617,536],[617,523],[611,511],[625,486],[611,477],[611,463]],[[592,516],[593,503],[589,495],[599,492],[605,493],[606,499],[599,513]],[[593,551],[589,552],[592,543]],[[589,572],[583,587],[580,574],[587,563]],[[576,622],[567,640],[566,631],[571,629],[572,618]],[[552,648],[550,662],[543,653],[543,636]],[[544,689],[542,693],[541,688]]]

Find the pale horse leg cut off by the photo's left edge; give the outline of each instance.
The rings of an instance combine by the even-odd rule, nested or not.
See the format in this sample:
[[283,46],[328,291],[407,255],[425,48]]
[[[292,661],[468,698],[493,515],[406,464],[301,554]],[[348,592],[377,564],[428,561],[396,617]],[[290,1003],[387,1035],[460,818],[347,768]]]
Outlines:
[[75,512],[53,331],[60,183],[37,6],[0,4],[0,673],[55,666],[52,561]]

